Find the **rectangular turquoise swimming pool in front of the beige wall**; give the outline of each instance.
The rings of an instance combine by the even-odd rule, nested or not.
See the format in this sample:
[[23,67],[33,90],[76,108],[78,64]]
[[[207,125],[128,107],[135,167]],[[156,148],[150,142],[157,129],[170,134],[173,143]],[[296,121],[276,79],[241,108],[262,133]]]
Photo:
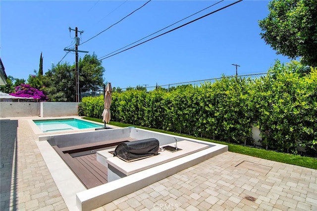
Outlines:
[[88,129],[102,127],[102,125],[90,123],[78,119],[33,120],[42,132],[64,131],[74,129]]

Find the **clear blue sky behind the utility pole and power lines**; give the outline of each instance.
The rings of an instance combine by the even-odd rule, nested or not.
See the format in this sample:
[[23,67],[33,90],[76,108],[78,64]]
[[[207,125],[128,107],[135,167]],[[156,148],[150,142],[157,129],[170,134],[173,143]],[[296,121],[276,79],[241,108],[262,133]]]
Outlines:
[[[104,31],[139,8],[141,0],[1,0],[0,51],[5,72],[27,79],[39,69],[43,52],[44,73],[74,44],[75,32],[84,31],[81,43]],[[211,4],[214,0],[152,0],[96,38],[79,45],[97,58],[142,39]],[[172,27],[208,14],[235,1],[224,0]],[[114,87],[155,86],[238,74],[267,72],[276,55],[259,35],[258,20],[268,14],[268,1],[244,0],[152,41],[102,60],[104,79]],[[156,36],[154,35],[154,36]],[[151,36],[149,38],[152,38]],[[149,39],[148,38],[148,39]],[[84,53],[79,53],[80,57]],[[74,64],[75,54],[63,62]]]

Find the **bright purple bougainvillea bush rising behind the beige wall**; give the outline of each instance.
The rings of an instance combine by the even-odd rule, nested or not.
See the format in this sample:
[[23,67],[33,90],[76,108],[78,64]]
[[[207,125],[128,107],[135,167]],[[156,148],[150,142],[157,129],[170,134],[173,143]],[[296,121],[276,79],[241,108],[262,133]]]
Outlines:
[[15,92],[10,93],[10,95],[16,97],[32,97],[40,101],[48,100],[48,97],[44,94],[43,91],[37,88],[33,88],[29,84],[20,84],[19,86],[15,86]]

